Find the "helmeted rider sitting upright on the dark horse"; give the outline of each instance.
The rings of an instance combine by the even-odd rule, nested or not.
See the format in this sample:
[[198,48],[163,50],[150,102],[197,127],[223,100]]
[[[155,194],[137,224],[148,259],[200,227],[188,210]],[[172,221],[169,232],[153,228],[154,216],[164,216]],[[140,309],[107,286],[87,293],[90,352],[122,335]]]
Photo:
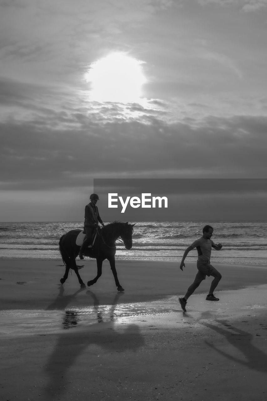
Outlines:
[[79,258],[83,259],[83,253],[85,249],[91,245],[92,243],[92,234],[93,231],[98,227],[98,222],[104,227],[104,223],[99,216],[97,201],[99,200],[99,196],[97,194],[90,195],[90,203],[85,206],[85,220],[84,220],[84,230],[86,233],[85,240],[81,245],[81,249],[79,252]]

